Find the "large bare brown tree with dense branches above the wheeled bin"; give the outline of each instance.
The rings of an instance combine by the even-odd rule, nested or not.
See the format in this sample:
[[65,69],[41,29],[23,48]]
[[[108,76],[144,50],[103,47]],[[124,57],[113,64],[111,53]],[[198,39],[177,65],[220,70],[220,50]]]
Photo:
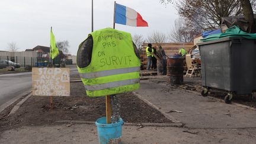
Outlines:
[[[202,30],[213,30],[220,27],[222,17],[245,15],[250,28],[255,27],[253,10],[256,9],[256,0],[159,0],[162,4],[175,2],[179,15],[185,18],[191,27],[200,27]],[[195,25],[196,24],[196,25]],[[254,25],[254,26],[253,26]]]

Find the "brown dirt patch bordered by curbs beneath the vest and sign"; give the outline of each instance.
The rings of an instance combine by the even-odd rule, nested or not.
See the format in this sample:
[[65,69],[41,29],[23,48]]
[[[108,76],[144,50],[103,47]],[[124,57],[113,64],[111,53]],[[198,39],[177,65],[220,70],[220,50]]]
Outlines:
[[[105,116],[105,98],[87,97],[82,82],[71,83],[71,95],[53,97],[53,110],[49,109],[49,97],[31,96],[15,114],[2,119],[0,117],[0,132],[23,126],[56,124],[58,120],[95,121]],[[121,105],[121,118],[125,122],[171,123],[171,120],[131,92],[118,94],[117,99]]]

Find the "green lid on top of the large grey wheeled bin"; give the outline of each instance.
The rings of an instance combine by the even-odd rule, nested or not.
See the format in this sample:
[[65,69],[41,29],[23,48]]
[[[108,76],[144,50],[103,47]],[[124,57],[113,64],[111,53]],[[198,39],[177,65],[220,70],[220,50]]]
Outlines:
[[200,41],[218,40],[224,37],[244,37],[246,39],[256,39],[256,33],[246,33],[234,25],[233,27],[228,28],[225,33],[212,34],[204,39],[200,39]]

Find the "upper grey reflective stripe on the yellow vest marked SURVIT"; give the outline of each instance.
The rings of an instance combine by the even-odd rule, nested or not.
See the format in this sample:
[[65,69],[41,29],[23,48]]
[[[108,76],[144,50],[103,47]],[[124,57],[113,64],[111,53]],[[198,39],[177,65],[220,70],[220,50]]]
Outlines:
[[118,75],[122,73],[129,73],[129,72],[138,72],[140,71],[140,67],[132,67],[132,68],[122,68],[122,69],[111,69],[106,71],[100,71],[100,72],[90,72],[90,73],[79,73],[81,78],[98,78],[101,76],[108,76],[108,75]]

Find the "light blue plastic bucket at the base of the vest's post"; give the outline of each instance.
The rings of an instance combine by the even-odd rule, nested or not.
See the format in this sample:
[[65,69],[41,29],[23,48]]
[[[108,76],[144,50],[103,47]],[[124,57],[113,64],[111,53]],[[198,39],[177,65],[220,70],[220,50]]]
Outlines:
[[121,126],[123,119],[119,119],[117,123],[107,124],[106,117],[101,117],[95,122],[98,132],[98,140],[101,144],[121,143]]

